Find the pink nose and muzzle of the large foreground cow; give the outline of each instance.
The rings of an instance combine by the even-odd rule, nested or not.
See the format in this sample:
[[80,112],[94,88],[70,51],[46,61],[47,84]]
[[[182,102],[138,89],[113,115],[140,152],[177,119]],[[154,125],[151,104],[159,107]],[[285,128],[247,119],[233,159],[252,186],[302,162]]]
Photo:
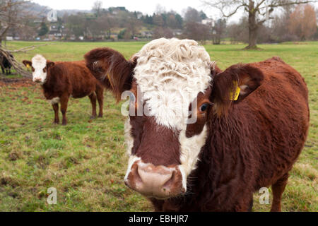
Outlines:
[[125,184],[140,194],[154,198],[170,198],[184,193],[182,174],[177,167],[155,166],[135,162]]

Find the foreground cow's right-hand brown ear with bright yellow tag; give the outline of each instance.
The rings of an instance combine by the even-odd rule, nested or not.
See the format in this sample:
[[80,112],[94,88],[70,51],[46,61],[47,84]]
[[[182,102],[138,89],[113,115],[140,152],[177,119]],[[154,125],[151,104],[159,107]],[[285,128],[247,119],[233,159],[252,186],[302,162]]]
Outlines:
[[261,70],[249,64],[230,66],[213,77],[211,100],[214,112],[227,114],[230,105],[237,104],[256,90],[264,80]]

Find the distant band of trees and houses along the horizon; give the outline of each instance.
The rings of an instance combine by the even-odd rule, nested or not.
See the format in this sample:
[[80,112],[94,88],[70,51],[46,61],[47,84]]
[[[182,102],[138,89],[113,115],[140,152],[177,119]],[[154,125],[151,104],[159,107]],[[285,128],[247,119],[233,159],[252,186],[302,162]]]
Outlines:
[[[218,8],[220,18],[209,20],[195,8],[165,11],[158,6],[155,13],[144,15],[124,7],[103,8],[95,1],[91,11],[64,13],[51,23],[46,11],[35,13],[32,4],[23,0],[0,0],[0,44],[4,37],[21,40],[45,39],[49,35],[61,40],[133,40],[179,37],[198,41],[221,40],[246,42],[250,48],[262,42],[285,42],[318,39],[317,11],[308,1],[287,0],[217,0],[203,1]],[[244,9],[240,21],[227,23],[230,16]],[[273,13],[281,8],[279,13]]]

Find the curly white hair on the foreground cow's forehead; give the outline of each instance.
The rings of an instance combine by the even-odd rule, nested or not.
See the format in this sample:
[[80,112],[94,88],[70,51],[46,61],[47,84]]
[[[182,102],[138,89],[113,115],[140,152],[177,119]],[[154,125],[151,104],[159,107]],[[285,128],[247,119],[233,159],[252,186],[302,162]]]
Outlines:
[[184,129],[189,105],[211,82],[211,60],[194,40],[161,38],[139,53],[134,78],[158,124]]

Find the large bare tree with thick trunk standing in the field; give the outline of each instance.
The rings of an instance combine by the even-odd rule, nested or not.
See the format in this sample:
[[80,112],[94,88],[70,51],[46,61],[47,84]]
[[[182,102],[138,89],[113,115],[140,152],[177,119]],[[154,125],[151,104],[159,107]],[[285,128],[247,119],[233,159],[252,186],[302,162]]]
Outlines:
[[241,8],[249,14],[249,45],[246,49],[257,48],[258,29],[270,18],[274,8],[317,1],[304,0],[202,0],[206,6],[218,8],[224,17],[233,16]]

